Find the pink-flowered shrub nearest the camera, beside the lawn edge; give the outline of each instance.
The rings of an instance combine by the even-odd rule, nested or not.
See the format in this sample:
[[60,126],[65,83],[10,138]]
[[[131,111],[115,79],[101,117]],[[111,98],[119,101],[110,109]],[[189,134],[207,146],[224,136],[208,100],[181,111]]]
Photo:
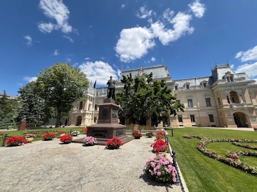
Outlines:
[[161,155],[146,161],[143,172],[158,182],[176,182],[177,170],[169,159]]

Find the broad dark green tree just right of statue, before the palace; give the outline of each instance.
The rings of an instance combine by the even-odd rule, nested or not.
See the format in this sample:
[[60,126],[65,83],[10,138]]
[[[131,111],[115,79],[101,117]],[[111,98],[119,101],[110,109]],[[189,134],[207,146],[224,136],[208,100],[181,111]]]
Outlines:
[[140,125],[145,125],[149,118],[156,123],[163,120],[164,113],[174,114],[183,109],[183,104],[176,103],[176,95],[171,94],[163,79],[153,80],[153,73],[145,78],[123,75],[124,89],[116,94],[116,103],[122,106],[119,111],[121,123],[124,124],[127,118]]

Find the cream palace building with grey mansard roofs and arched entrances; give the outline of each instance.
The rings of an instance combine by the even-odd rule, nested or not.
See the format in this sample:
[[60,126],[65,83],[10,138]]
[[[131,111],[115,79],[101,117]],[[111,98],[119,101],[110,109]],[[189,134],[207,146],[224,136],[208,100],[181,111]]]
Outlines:
[[[177,102],[184,103],[184,112],[174,117],[166,115],[168,126],[204,127],[254,127],[257,126],[257,84],[246,73],[235,73],[229,63],[216,65],[211,76],[172,80],[168,67],[156,65],[138,69],[123,70],[122,75],[132,74],[144,77],[153,73],[154,79],[164,79],[172,94],[177,94]],[[116,80],[116,92],[123,89],[120,79]],[[106,88],[90,88],[87,100],[74,103],[70,125],[90,125],[98,120],[98,104],[106,98]],[[130,123],[130,122],[127,122]],[[163,122],[162,126],[164,125]],[[148,126],[153,126],[151,119]],[[161,126],[161,125],[160,125]]]

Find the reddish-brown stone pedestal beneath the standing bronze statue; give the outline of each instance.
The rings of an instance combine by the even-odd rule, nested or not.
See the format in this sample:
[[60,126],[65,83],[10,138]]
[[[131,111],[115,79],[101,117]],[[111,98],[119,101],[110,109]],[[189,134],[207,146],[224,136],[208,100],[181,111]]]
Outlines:
[[[118,123],[119,105],[115,104],[114,99],[106,98],[104,102],[98,106],[98,122],[97,124],[87,126],[87,136],[96,137],[97,144],[99,145],[105,145],[107,140],[112,138],[118,138],[123,143],[134,139],[134,137],[127,137],[126,126]],[[76,142],[76,140],[72,140],[72,142]]]

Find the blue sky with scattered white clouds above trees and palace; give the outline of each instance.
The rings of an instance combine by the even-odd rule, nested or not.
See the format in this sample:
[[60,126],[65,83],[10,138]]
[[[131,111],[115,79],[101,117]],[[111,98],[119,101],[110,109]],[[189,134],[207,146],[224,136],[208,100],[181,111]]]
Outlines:
[[[161,64],[172,79],[211,75],[227,59],[257,80],[257,1],[0,2],[0,93],[68,62],[97,87],[120,70]],[[215,60],[214,60],[215,59]]]

